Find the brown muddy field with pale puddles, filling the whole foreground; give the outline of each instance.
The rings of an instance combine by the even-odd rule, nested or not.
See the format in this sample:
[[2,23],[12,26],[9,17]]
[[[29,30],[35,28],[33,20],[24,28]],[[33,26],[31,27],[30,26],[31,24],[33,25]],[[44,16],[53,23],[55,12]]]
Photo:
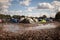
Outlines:
[[59,40],[60,23],[0,24],[0,40]]

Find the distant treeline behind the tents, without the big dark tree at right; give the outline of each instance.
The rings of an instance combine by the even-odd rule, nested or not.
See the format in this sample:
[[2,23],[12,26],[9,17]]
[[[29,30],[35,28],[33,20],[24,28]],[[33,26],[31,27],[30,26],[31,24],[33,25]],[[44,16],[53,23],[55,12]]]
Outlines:
[[[10,18],[20,19],[21,17],[25,18],[25,17],[28,17],[28,16],[24,16],[24,15],[22,15],[22,16],[20,16],[20,15],[13,15],[13,16],[11,16],[11,15],[0,14],[0,19],[10,19]],[[39,18],[39,17],[30,17],[30,18]],[[43,15],[42,18],[47,18],[47,16]]]

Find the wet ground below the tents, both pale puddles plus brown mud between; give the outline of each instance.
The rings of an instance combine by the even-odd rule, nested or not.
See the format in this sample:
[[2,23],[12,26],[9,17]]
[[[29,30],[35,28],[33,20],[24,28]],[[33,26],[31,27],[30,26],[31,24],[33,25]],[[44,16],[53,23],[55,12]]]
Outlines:
[[51,28],[56,28],[56,25],[54,23],[49,23],[49,24],[38,24],[31,26],[33,24],[3,24],[3,31],[6,32],[14,32],[18,33],[21,31],[29,31],[29,30],[40,30],[40,29],[51,29]]

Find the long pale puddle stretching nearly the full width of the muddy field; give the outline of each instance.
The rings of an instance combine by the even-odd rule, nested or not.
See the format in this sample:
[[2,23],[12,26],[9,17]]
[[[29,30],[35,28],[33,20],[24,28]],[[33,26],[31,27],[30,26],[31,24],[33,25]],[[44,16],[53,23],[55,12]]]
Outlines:
[[55,28],[56,25],[54,25],[53,23],[50,24],[40,24],[39,26],[36,27],[20,27],[19,25],[13,25],[13,24],[6,24],[3,26],[3,31],[7,31],[7,32],[20,32],[20,31],[27,31],[27,30],[39,30],[39,29],[50,29],[50,28]]

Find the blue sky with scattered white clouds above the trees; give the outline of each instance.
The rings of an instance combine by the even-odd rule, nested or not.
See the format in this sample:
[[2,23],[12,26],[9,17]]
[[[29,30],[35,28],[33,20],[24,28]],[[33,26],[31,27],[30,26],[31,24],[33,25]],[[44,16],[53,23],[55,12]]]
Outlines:
[[0,0],[0,13],[55,17],[60,11],[60,0]]

